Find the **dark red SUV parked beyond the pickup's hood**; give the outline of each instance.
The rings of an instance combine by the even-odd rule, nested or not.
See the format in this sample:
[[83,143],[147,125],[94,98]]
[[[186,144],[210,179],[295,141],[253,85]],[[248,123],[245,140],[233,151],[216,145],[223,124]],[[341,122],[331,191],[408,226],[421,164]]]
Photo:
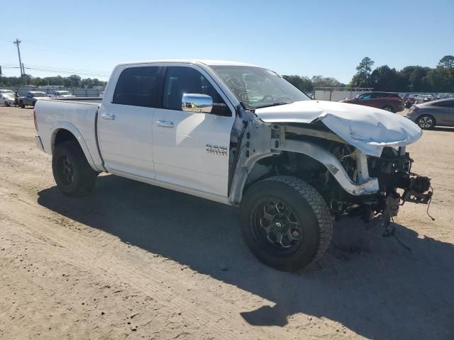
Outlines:
[[355,96],[355,98],[347,98],[342,102],[382,108],[390,112],[404,110],[404,100],[399,94],[394,92],[365,92],[364,94]]

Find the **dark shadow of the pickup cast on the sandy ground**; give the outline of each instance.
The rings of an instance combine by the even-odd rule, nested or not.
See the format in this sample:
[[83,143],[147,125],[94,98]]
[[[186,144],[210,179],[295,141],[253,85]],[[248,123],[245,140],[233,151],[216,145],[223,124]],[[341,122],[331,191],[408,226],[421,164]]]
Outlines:
[[305,313],[369,339],[454,339],[454,246],[411,226],[396,225],[399,239],[383,238],[381,227],[346,218],[319,263],[281,273],[246,249],[237,210],[227,205],[116,176],[99,177],[88,198],[67,198],[55,186],[38,195],[61,215],[275,302],[241,312],[250,324],[282,327]]

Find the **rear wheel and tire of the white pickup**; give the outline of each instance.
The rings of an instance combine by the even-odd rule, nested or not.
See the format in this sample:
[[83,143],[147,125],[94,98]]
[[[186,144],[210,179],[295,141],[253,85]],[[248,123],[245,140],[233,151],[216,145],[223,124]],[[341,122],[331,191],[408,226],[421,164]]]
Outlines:
[[86,196],[94,188],[98,173],[85,158],[79,143],[74,140],[57,145],[52,154],[52,172],[57,187],[66,196]]

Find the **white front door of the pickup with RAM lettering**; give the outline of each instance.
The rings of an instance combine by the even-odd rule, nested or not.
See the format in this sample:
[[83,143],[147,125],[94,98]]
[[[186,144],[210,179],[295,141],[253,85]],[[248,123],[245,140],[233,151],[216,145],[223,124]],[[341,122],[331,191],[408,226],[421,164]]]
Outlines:
[[[165,64],[162,108],[153,118],[153,162],[158,181],[216,196],[228,195],[234,109],[203,69]],[[226,111],[182,111],[182,95],[207,94]],[[219,107],[219,106],[218,106]]]

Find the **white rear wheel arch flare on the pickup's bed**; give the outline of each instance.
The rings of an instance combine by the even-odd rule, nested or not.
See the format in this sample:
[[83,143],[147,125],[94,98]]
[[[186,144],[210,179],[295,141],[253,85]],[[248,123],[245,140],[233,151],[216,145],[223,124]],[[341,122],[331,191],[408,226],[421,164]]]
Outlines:
[[51,130],[52,134],[50,136],[50,149],[52,151],[52,154],[54,153],[56,145],[67,140],[74,140],[79,144],[82,152],[84,152],[85,158],[87,158],[87,162],[88,164],[90,164],[90,166],[92,166],[92,169],[94,169],[95,171],[100,171],[94,164],[92,154],[90,153],[89,148],[87,147],[87,143],[82,137],[82,134],[74,125],[68,122],[57,122],[52,125]]

